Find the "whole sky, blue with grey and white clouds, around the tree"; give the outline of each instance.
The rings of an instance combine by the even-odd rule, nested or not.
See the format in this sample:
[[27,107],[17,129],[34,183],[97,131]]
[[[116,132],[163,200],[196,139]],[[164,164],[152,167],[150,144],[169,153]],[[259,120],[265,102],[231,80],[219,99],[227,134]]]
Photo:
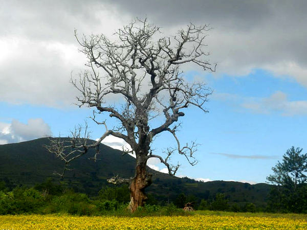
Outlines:
[[[87,119],[92,110],[74,104],[70,78],[86,62],[74,30],[112,37],[147,17],[161,36],[190,22],[212,28],[205,42],[216,72],[183,66],[187,79],[207,83],[213,94],[209,113],[191,107],[181,119],[178,137],[200,144],[199,163],[174,155],[172,162],[181,164],[177,176],[266,182],[287,149],[307,150],[306,1],[0,0],[0,6],[0,144],[67,136],[84,121],[91,138],[99,138],[103,127]],[[176,146],[168,137],[152,144],[156,154]],[[111,136],[103,143],[128,147]],[[148,165],[166,172],[158,160]]]

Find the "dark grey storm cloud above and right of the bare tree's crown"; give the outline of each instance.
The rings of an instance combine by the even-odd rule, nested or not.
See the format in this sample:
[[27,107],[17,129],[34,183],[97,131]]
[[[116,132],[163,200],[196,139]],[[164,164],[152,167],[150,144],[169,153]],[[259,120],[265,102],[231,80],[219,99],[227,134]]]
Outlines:
[[207,43],[217,73],[264,68],[307,86],[307,1],[108,1],[162,27],[210,24]]

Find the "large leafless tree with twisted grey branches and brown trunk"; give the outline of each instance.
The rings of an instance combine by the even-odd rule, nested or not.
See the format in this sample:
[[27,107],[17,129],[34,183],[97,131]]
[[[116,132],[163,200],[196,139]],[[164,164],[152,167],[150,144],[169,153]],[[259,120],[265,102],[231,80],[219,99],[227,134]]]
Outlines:
[[[144,190],[151,184],[151,174],[146,171],[147,160],[151,157],[160,159],[170,175],[174,175],[179,164],[169,164],[171,154],[178,152],[186,157],[191,165],[197,161],[193,157],[197,144],[181,145],[176,132],[180,127],[178,120],[185,116],[184,109],[191,105],[208,112],[204,107],[211,94],[202,82],[188,82],[183,77],[180,66],[193,63],[206,71],[215,71],[215,65],[206,61],[209,53],[204,51],[204,39],[208,26],[190,24],[185,30],[179,30],[176,36],[160,37],[160,28],[150,25],[147,20],[136,19],[119,29],[115,35],[117,41],[111,41],[103,34],[82,38],[75,36],[81,45],[81,52],[87,57],[86,65],[90,71],[79,74],[80,80],[72,79],[72,84],[79,90],[79,106],[95,108],[92,119],[104,125],[105,132],[98,141],[89,142],[81,129],[72,133],[69,140],[51,140],[48,147],[65,163],[64,174],[72,160],[86,154],[90,148],[96,148],[108,135],[123,139],[136,154],[136,171],[129,180],[129,209],[134,212],[146,200]],[[155,39],[156,38],[156,39]],[[110,95],[122,97],[118,106],[107,103]],[[109,117],[119,122],[119,127],[108,129],[105,122],[96,119],[97,114],[108,113]],[[164,117],[160,126],[152,127],[151,119]],[[158,134],[167,131],[172,134],[176,148],[168,148],[165,154],[154,154],[151,143]],[[109,182],[127,182],[114,177]]]

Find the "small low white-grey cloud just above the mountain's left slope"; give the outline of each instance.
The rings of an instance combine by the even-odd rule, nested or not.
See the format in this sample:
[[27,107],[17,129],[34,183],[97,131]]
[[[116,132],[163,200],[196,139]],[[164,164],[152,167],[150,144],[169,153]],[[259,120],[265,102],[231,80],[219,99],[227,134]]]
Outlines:
[[50,126],[41,118],[29,119],[27,124],[13,119],[10,124],[0,123],[0,143],[29,141],[39,137],[51,136]]

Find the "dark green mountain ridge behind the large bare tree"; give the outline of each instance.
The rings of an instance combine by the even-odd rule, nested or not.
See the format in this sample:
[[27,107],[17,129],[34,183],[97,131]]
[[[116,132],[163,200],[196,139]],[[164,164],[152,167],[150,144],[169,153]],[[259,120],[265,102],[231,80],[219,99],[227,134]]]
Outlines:
[[[47,138],[33,141],[0,145],[0,180],[7,185],[34,186],[54,178],[60,181],[54,172],[61,172],[63,163],[53,154],[49,153],[44,145],[48,145]],[[128,178],[134,175],[135,158],[101,144],[99,160],[95,163],[89,159],[94,151],[75,160],[60,182],[77,192],[95,196],[107,184],[106,179],[114,175]],[[172,177],[152,169],[152,185],[146,189],[160,202],[174,201],[179,194],[194,196],[195,199],[213,199],[216,193],[224,193],[231,203],[244,204],[253,202],[264,207],[271,189],[266,183],[250,185],[249,183],[235,181],[209,181],[200,182],[190,178]]]

